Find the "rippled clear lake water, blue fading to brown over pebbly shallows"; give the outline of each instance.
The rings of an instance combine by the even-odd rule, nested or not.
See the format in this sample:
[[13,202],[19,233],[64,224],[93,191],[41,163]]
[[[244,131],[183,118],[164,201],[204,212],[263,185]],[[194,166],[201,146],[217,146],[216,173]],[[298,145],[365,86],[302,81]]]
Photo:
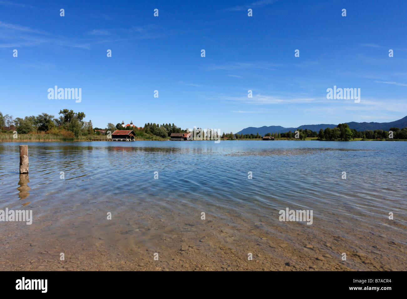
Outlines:
[[29,142],[28,175],[20,144],[0,210],[33,220],[0,221],[0,270],[407,269],[407,142]]

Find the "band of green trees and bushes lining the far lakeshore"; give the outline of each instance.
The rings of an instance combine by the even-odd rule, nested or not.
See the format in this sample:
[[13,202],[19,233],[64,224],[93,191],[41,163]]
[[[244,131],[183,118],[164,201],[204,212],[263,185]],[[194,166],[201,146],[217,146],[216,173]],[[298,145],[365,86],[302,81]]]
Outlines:
[[[11,115],[4,115],[0,112],[0,130],[6,131],[11,126],[15,126],[15,131],[19,134],[27,133],[41,133],[53,135],[62,135],[63,137],[79,137],[88,134],[95,134],[94,130],[102,130],[101,128],[93,128],[92,120],[89,122],[84,121],[85,113],[74,112],[69,109],[62,109],[58,113],[59,117],[55,118],[53,115],[48,113],[41,113],[37,116],[26,116],[24,118],[13,118]],[[147,123],[144,127],[123,127],[122,124],[118,123],[116,126],[112,123],[108,123],[105,128],[106,131],[115,130],[133,130],[136,136],[142,138],[151,138],[151,136],[158,136],[161,138],[168,138],[172,133],[186,133],[186,130],[177,127],[174,123],[168,124],[156,124]],[[199,129],[199,128],[198,128]],[[12,130],[11,130],[12,131]],[[399,129],[396,127],[389,128],[389,131],[393,131],[393,139],[407,139],[407,127]],[[385,130],[365,130],[356,131],[355,129],[350,129],[348,124],[338,124],[337,127],[325,130],[320,129],[319,132],[315,132],[308,129],[299,129],[298,137],[301,140],[307,137],[317,137],[317,140],[352,140],[354,138],[362,139],[387,139],[389,138],[389,131]],[[96,132],[100,135],[100,132]],[[274,138],[295,138],[295,132],[285,132],[285,133],[267,133],[265,136],[273,136]],[[259,133],[254,134],[233,134],[224,133],[222,138],[225,139],[259,139],[262,135]]]

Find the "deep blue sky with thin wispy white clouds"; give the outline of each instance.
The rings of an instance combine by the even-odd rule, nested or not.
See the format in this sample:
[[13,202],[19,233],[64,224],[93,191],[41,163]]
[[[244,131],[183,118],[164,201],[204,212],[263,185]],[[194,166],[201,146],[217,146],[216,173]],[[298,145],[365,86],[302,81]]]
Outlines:
[[[0,111],[57,116],[68,108],[94,127],[133,120],[234,133],[398,120],[407,115],[406,8],[376,0],[0,0]],[[81,103],[49,100],[55,85],[81,88]],[[360,103],[327,100],[334,85],[360,88]]]

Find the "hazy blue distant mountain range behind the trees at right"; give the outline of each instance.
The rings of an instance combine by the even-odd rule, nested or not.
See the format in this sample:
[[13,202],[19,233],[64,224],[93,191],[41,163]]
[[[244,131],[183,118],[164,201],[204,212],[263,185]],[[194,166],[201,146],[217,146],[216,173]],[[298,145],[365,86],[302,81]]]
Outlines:
[[[350,129],[356,129],[356,131],[365,130],[385,130],[388,131],[391,127],[397,127],[403,129],[407,127],[407,116],[402,119],[395,120],[394,122],[346,122]],[[325,130],[326,128],[335,128],[338,124],[304,124],[297,128],[284,128],[281,126],[270,126],[270,127],[248,127],[243,129],[236,134],[255,134],[259,133],[264,136],[267,133],[285,133],[288,131],[294,132],[297,129],[309,129],[318,132],[320,129]]]

